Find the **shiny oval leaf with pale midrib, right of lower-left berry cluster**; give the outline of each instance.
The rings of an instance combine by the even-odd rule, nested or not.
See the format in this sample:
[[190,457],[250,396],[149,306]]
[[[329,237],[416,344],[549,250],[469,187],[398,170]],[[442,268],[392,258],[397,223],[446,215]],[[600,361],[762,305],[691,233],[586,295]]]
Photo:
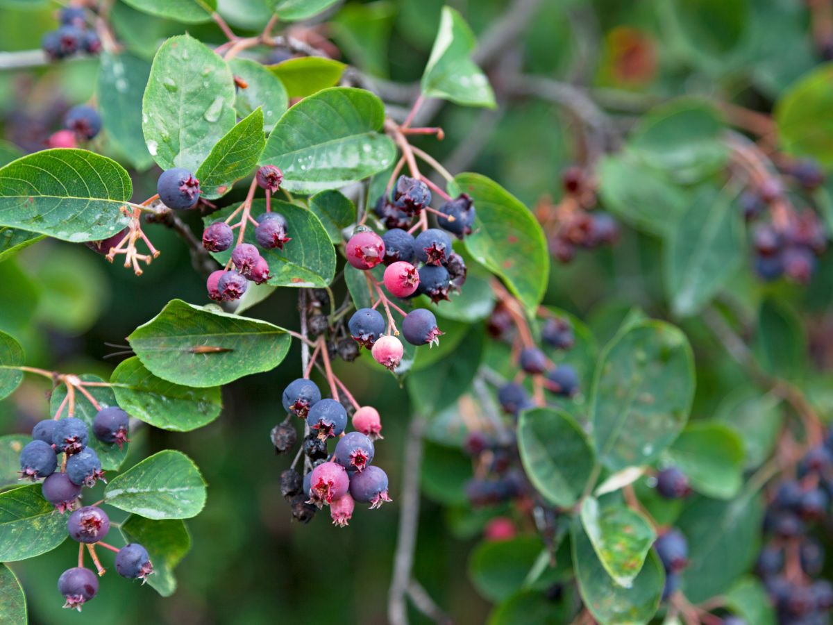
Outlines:
[[206,483],[191,458],[166,449],[112,478],[104,498],[145,518],[190,518],[205,506]]

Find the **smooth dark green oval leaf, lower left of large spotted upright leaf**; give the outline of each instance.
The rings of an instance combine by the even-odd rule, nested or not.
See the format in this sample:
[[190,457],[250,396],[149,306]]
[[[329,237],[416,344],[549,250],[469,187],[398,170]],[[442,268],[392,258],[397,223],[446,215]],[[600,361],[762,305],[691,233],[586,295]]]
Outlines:
[[534,408],[521,413],[518,451],[532,485],[548,502],[561,507],[578,501],[596,466],[586,434],[563,410]]

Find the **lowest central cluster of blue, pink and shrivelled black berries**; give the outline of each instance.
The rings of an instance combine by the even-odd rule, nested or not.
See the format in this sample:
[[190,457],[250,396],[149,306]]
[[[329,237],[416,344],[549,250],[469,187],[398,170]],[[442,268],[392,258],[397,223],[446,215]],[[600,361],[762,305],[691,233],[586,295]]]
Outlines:
[[[382,422],[376,408],[357,408],[352,416],[355,431],[345,433],[347,409],[335,399],[323,398],[317,384],[298,378],[283,391],[287,419],[272,429],[277,452],[289,451],[297,441],[292,415],[305,419],[310,434],[304,438],[304,475],[295,468],[281,474],[281,492],[292,507],[292,516],[309,522],[315,512],[327,505],[333,524],[344,527],[352,517],[356,502],[371,508],[391,501],[387,494],[387,474],[372,464],[374,441],[382,438]],[[327,450],[331,438],[337,439],[333,453]]]

